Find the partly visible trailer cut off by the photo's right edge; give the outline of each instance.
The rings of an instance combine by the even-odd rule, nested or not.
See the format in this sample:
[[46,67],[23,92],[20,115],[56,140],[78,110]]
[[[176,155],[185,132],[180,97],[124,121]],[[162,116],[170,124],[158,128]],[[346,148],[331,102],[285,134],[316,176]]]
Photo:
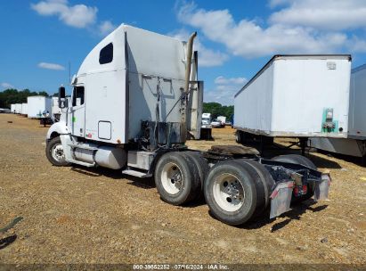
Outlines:
[[352,70],[347,138],[312,137],[308,145],[355,157],[366,155],[366,64]]

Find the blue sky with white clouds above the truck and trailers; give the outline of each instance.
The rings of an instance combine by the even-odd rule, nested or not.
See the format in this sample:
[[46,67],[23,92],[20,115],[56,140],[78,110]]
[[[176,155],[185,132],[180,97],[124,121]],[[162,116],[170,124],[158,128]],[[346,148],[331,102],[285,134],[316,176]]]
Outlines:
[[273,54],[351,53],[366,63],[366,1],[1,1],[0,90],[50,94],[121,23],[186,39],[197,30],[205,101],[232,96]]

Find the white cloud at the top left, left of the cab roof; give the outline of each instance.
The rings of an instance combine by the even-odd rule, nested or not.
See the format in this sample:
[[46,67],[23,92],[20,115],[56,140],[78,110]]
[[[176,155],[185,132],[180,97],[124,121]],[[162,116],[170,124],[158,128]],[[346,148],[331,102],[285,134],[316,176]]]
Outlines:
[[67,0],[45,0],[31,4],[31,8],[43,16],[58,16],[70,27],[84,29],[96,21],[96,7],[85,4],[69,5]]

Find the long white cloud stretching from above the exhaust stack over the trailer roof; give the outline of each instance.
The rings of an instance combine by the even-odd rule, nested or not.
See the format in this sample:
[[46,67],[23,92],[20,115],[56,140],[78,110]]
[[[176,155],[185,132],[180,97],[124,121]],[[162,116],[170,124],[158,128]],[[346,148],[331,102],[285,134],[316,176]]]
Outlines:
[[274,53],[332,53],[346,42],[342,33],[319,33],[304,27],[273,24],[262,28],[255,21],[235,22],[228,10],[206,11],[183,5],[178,19],[201,29],[210,40],[224,44],[234,55],[246,58]]

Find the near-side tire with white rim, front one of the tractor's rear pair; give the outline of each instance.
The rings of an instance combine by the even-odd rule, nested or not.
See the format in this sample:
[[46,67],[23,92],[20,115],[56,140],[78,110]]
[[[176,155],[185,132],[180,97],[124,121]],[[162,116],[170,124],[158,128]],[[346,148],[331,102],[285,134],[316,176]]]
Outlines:
[[167,152],[157,163],[155,185],[160,198],[173,205],[192,201],[199,193],[199,171],[190,156]]

